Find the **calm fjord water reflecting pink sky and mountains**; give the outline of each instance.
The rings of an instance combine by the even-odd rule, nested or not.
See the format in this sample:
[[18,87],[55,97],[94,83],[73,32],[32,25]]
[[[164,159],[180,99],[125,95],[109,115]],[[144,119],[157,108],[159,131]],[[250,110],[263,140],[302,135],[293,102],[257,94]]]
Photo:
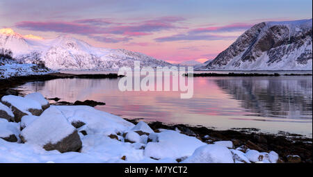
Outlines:
[[125,118],[312,137],[312,76],[193,78],[192,99],[180,99],[181,92],[120,92],[118,81],[66,78],[19,88],[61,101],[103,101],[97,109]]

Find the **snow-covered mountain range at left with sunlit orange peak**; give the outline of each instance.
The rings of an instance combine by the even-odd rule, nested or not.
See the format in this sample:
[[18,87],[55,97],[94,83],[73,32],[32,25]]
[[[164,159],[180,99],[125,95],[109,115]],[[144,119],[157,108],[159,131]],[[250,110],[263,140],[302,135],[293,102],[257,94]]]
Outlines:
[[10,49],[19,62],[32,63],[42,60],[51,69],[105,70],[120,67],[134,67],[134,61],[141,61],[141,67],[172,66],[143,53],[125,49],[93,47],[74,37],[61,35],[44,40],[33,35],[20,35],[10,28],[0,30],[0,48]]

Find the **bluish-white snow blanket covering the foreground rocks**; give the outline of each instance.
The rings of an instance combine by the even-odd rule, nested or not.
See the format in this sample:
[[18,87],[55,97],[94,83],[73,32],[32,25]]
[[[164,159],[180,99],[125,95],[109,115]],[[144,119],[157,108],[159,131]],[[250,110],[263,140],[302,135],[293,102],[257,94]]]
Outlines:
[[[72,121],[83,121],[85,125],[77,131],[86,130],[88,133],[79,133],[81,152],[45,151],[42,146],[49,142],[54,144],[76,130],[71,125]],[[20,131],[19,127],[25,128]],[[140,136],[134,130],[149,131],[150,135]],[[0,162],[176,163],[177,159],[181,159],[182,162],[249,163],[259,162],[260,155],[263,155],[262,162],[278,160],[274,151],[259,153],[248,149],[243,153],[228,149],[228,141],[205,144],[196,137],[175,130],[160,131],[152,133],[145,123],[135,126],[121,117],[90,106],[51,106],[40,116],[22,117],[20,123],[0,119],[0,137],[15,135],[18,138],[17,142],[6,142],[0,138]],[[124,133],[127,133],[125,138],[121,136]],[[19,135],[24,137],[26,143],[20,143]],[[111,139],[109,135],[117,135],[118,140]],[[126,139],[135,143],[125,142]],[[122,160],[124,156],[126,159]]]

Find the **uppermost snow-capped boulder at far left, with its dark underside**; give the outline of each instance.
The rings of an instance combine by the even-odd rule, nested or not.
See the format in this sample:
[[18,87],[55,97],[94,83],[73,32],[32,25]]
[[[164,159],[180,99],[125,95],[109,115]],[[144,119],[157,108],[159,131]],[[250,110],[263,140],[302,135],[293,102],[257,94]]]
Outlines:
[[13,110],[15,121],[21,121],[24,115],[40,115],[42,108],[38,101],[26,99],[22,96],[6,95],[1,98],[1,102]]

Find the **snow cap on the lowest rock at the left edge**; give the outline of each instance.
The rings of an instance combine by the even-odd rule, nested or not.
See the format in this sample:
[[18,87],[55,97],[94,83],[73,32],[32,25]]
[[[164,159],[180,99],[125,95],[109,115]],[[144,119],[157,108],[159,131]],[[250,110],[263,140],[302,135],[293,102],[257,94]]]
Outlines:
[[0,119],[0,137],[9,137],[10,135],[19,136],[19,124]]

